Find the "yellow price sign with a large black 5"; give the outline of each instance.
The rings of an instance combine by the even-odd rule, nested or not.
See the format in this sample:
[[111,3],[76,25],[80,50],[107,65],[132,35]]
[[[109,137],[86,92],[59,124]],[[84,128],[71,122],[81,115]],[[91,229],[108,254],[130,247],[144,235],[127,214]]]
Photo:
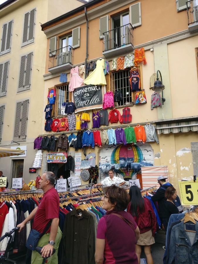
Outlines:
[[182,204],[198,204],[198,181],[179,182]]

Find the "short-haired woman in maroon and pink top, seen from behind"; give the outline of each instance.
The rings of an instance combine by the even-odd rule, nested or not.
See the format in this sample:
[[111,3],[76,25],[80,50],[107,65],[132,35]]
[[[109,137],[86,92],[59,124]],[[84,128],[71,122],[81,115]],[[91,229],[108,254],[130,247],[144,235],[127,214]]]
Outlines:
[[138,264],[135,245],[140,231],[133,217],[124,211],[129,195],[116,185],[105,187],[104,193],[102,208],[107,212],[98,222],[96,264]]

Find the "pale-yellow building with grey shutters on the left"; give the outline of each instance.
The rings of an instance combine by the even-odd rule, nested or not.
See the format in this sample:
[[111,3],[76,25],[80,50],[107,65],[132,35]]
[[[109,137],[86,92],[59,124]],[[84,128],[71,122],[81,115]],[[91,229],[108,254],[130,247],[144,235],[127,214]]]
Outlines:
[[[29,173],[35,159],[34,139],[42,132],[45,54],[47,38],[40,25],[62,12],[86,3],[83,0],[8,0],[0,5],[0,144],[21,148],[25,155],[0,159],[8,177],[35,179]],[[39,169],[37,169],[38,175]]]

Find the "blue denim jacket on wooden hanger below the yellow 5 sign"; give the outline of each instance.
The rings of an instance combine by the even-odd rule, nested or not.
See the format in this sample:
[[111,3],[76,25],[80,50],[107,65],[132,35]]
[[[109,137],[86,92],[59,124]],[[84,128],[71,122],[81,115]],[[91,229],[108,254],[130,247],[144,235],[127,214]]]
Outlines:
[[173,226],[170,235],[169,264],[198,263],[198,222],[196,221],[196,235],[193,245],[185,232],[184,222]]

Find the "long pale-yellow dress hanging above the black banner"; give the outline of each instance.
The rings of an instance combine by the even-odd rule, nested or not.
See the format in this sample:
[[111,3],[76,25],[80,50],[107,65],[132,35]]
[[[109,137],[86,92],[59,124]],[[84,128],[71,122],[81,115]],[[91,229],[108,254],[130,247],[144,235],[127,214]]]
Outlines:
[[97,60],[95,70],[89,74],[89,76],[84,80],[84,83],[94,85],[106,85],[104,68],[104,59]]

